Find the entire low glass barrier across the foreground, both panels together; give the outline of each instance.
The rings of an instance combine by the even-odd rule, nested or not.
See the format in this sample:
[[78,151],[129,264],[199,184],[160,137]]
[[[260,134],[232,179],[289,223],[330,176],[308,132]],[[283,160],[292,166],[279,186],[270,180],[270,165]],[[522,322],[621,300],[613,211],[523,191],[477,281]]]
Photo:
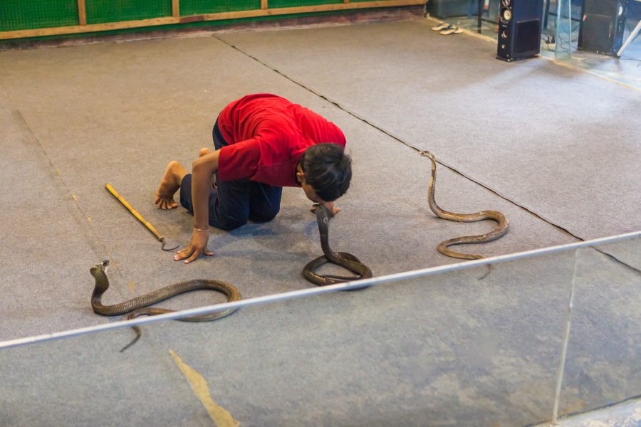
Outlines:
[[128,327],[0,349],[0,424],[550,421],[572,295],[559,413],[639,394],[640,275],[620,260],[638,260],[639,244],[249,305],[214,322],[147,323],[125,352]]

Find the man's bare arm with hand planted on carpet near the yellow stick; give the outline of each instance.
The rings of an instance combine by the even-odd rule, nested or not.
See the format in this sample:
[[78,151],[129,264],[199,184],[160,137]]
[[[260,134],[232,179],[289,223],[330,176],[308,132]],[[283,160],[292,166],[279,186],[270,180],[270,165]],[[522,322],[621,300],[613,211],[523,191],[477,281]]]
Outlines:
[[194,205],[194,231],[187,248],[178,251],[174,260],[185,260],[191,263],[200,253],[212,256],[207,249],[209,240],[209,191],[212,188],[212,177],[218,170],[220,150],[205,154],[192,164],[192,203]]

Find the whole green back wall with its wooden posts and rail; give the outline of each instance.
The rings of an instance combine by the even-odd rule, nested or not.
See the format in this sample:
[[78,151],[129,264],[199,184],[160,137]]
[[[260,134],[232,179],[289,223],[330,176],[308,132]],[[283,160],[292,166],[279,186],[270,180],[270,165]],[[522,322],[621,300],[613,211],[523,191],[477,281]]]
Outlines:
[[0,43],[418,6],[424,0],[5,0]]

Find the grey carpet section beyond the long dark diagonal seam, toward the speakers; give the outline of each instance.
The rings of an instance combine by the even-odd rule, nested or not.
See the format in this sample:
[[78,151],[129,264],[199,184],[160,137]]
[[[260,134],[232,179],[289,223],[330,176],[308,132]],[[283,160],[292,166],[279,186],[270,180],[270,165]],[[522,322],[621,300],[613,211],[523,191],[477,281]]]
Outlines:
[[603,80],[548,60],[504,63],[495,45],[430,26],[221,38],[580,238],[641,228],[638,164],[627,161],[641,157],[638,91],[603,93]]

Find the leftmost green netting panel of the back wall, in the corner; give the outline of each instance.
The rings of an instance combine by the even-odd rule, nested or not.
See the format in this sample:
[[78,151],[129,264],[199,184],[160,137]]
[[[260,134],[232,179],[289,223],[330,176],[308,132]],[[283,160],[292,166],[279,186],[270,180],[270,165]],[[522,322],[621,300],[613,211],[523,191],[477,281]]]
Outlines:
[[0,31],[78,25],[76,0],[0,0]]

